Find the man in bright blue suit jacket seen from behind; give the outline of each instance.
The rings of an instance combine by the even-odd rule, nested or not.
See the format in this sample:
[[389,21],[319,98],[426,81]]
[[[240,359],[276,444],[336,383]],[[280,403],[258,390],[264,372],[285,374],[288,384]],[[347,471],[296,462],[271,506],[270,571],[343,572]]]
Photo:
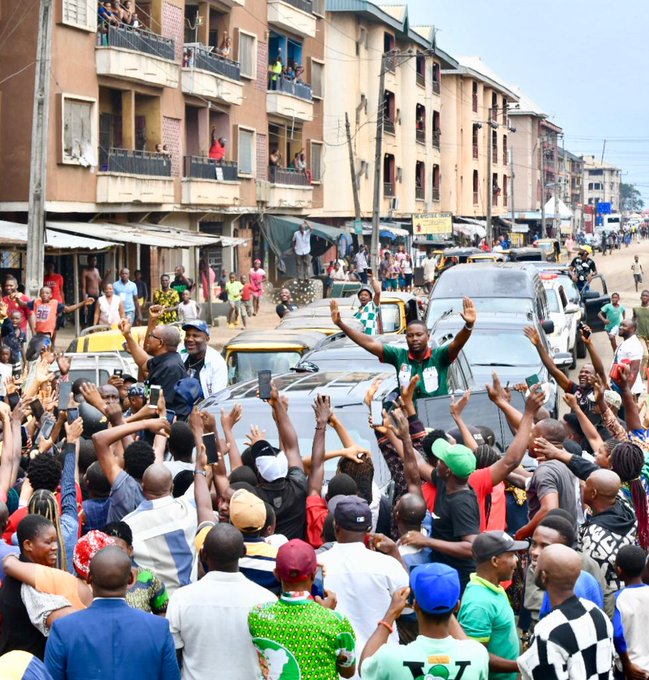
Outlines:
[[94,601],[52,626],[45,665],[53,680],[180,680],[169,624],[126,604],[131,561],[116,546],[90,562]]

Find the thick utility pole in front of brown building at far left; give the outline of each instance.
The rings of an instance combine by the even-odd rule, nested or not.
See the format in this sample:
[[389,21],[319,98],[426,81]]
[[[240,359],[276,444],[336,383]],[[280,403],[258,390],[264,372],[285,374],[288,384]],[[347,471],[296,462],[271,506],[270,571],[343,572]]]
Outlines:
[[45,200],[47,198],[47,124],[50,108],[50,65],[52,60],[52,0],[41,0],[34,107],[32,148],[29,166],[29,216],[27,222],[26,290],[36,297],[43,283],[45,268]]

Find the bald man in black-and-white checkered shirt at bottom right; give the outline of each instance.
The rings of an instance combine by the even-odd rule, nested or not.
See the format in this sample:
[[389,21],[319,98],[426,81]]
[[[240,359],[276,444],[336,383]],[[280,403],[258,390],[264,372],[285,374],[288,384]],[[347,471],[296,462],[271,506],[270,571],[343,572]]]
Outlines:
[[523,680],[608,680],[613,666],[613,626],[592,602],[575,595],[581,558],[555,543],[539,556],[537,585],[553,611],[534,629],[534,641],[518,659]]

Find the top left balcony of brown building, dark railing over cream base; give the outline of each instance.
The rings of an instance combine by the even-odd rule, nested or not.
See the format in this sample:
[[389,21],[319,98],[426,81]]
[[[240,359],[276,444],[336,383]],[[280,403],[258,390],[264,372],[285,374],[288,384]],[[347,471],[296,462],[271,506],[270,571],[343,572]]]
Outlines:
[[157,87],[178,87],[180,67],[171,38],[128,26],[97,31],[97,75]]

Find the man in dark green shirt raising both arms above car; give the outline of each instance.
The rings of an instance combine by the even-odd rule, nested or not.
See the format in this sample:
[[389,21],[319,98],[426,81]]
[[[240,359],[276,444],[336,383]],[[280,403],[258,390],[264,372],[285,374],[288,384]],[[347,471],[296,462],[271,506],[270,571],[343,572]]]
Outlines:
[[415,398],[437,397],[448,394],[448,367],[457,359],[460,350],[471,337],[476,320],[473,301],[464,298],[462,318],[464,326],[447,345],[431,349],[428,346],[428,328],[424,321],[411,321],[406,327],[406,343],[408,349],[383,345],[371,335],[350,328],[340,317],[340,310],[335,300],[331,301],[331,319],[340,330],[357,345],[366,349],[383,363],[394,366],[399,378],[399,386],[407,388],[410,379],[418,375]]

